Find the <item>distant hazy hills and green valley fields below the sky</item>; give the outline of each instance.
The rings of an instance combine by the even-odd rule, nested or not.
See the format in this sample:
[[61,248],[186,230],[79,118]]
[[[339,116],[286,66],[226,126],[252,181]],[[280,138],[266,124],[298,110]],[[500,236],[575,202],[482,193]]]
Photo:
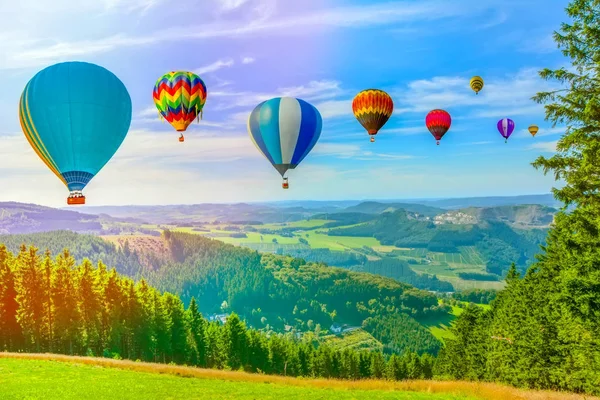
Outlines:
[[[540,196],[489,202],[519,199]],[[301,202],[286,207],[246,203],[79,207],[77,211],[0,203],[0,232],[70,230],[122,245],[124,238],[156,237],[169,229],[383,275],[421,289],[453,291],[501,288],[513,261],[524,271],[543,244],[556,212],[544,205],[444,209],[406,202],[353,203],[344,202],[346,207],[332,202],[320,207],[320,202],[309,202],[308,207]]]

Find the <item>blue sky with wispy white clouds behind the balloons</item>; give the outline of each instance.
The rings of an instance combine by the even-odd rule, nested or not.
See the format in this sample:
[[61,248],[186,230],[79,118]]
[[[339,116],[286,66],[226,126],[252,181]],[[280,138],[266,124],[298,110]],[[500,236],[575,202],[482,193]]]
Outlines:
[[[540,69],[568,66],[552,40],[566,0],[52,3],[0,0],[0,201],[66,203],[18,120],[27,82],[62,61],[109,69],[133,103],[122,146],[84,190],[88,205],[511,196],[556,185],[531,162],[552,155],[564,128],[544,121],[531,97],[556,87]],[[184,143],[152,101],[171,70],[199,74],[208,89],[204,119]],[[473,75],[485,80],[477,96]],[[371,87],[395,106],[374,143],[351,109]],[[289,190],[246,131],[252,109],[278,96],[323,117]],[[440,146],[424,122],[435,108],[452,115]],[[505,144],[496,123],[506,117],[516,129]]]

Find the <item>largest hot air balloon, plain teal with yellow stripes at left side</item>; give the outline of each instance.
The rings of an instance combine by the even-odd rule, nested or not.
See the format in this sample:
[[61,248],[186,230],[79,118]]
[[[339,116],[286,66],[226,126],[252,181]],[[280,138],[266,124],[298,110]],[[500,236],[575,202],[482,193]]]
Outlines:
[[19,119],[31,147],[69,189],[67,204],[85,204],[83,188],[127,135],[131,98],[105,68],[64,62],[27,83]]

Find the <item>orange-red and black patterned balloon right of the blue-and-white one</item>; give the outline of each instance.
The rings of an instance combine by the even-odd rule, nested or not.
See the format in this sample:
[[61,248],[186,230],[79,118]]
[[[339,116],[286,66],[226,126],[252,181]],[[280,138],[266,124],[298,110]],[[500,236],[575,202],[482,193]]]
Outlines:
[[383,90],[367,89],[354,97],[352,111],[371,136],[371,142],[374,142],[377,132],[390,119],[394,111],[394,102]]

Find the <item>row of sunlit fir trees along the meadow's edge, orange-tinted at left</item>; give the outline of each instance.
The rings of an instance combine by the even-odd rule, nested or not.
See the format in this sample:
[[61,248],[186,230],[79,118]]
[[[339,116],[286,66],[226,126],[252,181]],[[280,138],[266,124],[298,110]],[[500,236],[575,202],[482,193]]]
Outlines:
[[434,358],[406,351],[333,350],[313,337],[266,335],[233,313],[208,322],[192,297],[134,283],[99,262],[77,264],[68,250],[52,258],[0,245],[0,351],[52,352],[194,365],[289,376],[342,379],[432,377]]

